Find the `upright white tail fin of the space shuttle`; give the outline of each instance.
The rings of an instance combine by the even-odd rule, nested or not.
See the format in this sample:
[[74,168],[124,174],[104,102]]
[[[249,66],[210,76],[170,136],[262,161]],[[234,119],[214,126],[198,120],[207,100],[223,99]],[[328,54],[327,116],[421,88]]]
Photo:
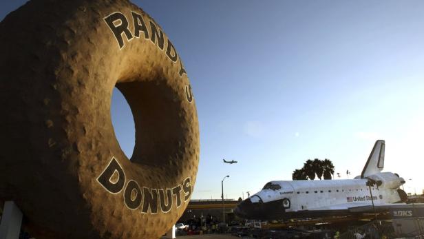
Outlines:
[[372,148],[371,154],[368,157],[365,167],[363,167],[361,178],[368,177],[372,174],[377,174],[383,170],[384,167],[384,149],[385,142],[378,140]]

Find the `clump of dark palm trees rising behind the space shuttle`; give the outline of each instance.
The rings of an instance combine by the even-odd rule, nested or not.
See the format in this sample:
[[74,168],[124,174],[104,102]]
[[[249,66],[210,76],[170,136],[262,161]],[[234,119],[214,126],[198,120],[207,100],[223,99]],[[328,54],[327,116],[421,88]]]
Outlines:
[[314,160],[306,160],[304,167],[293,171],[292,178],[293,180],[314,180],[315,176],[317,176],[321,180],[324,176],[324,179],[332,179],[332,174],[334,173],[335,166],[331,160],[315,158]]

